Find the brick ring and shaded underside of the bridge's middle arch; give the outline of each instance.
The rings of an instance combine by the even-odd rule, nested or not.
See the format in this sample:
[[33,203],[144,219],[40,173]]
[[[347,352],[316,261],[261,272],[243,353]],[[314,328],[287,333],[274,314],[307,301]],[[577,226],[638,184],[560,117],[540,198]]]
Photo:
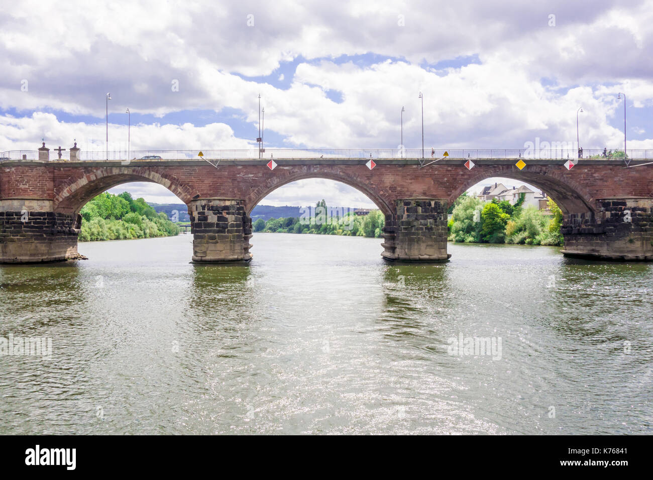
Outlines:
[[372,202],[381,210],[383,215],[392,216],[394,212],[394,206],[389,202],[389,200],[384,199],[378,193],[375,193],[373,190],[369,189],[367,185],[362,182],[356,182],[350,176],[338,175],[328,172],[302,172],[302,173],[292,173],[283,177],[274,177],[265,184],[261,185],[255,191],[250,193],[245,199],[245,209],[247,215],[251,214],[251,211],[255,206],[261,202],[265,197],[270,195],[273,191],[283,185],[291,184],[297,182],[298,180],[308,180],[310,178],[323,178],[325,180],[333,180],[334,182],[340,182],[345,185],[349,185],[360,193],[372,200]]

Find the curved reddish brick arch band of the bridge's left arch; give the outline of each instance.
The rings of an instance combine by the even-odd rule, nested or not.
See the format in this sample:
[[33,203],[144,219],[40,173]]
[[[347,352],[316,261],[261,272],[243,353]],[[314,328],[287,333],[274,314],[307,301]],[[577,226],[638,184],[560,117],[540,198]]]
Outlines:
[[65,214],[78,214],[89,200],[100,193],[129,182],[151,182],[163,185],[188,204],[194,191],[178,178],[161,174],[151,168],[104,167],[85,168],[78,175],[70,176],[54,190],[54,210]]

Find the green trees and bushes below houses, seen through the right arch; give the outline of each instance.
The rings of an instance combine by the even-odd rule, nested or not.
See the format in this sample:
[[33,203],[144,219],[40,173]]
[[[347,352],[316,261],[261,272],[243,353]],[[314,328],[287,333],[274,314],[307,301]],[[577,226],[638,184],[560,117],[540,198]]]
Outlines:
[[483,202],[464,193],[451,209],[449,240],[490,244],[562,245],[562,211],[553,200],[551,216],[534,206],[523,207],[525,194],[511,205],[507,200]]

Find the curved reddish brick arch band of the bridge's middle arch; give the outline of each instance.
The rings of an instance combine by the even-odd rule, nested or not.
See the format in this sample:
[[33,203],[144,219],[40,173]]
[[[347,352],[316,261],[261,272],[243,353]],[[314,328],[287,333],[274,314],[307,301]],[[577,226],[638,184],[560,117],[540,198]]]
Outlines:
[[307,180],[309,178],[324,178],[326,180],[334,180],[335,182],[349,185],[350,187],[360,191],[360,193],[366,195],[368,199],[372,200],[384,215],[392,215],[394,212],[394,199],[390,197],[389,192],[376,191],[371,185],[368,185],[365,180],[357,178],[355,174],[348,173],[345,175],[338,172],[310,169],[300,172],[297,172],[296,170],[285,171],[282,175],[276,175],[270,178],[270,180],[263,182],[263,184],[259,185],[259,187],[247,195],[245,199],[247,214],[251,214],[251,211],[261,200],[279,187],[283,187],[283,185],[291,184],[298,180]]

